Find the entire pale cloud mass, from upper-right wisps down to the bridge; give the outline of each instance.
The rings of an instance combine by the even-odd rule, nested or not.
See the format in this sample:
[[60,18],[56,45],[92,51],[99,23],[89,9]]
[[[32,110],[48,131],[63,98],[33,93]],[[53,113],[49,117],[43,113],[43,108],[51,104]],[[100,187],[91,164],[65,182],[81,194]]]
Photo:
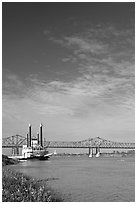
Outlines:
[[50,131],[62,137],[66,130],[71,137],[91,132],[114,136],[112,130],[116,131],[118,124],[117,135],[129,129],[133,132],[133,31],[97,27],[60,39],[51,36],[50,40],[71,50],[72,54],[63,56],[61,61],[77,63],[80,75],[70,81],[46,81],[38,75],[24,80],[16,74],[5,73],[4,120],[9,120],[9,124],[12,118],[17,123],[48,120]]

